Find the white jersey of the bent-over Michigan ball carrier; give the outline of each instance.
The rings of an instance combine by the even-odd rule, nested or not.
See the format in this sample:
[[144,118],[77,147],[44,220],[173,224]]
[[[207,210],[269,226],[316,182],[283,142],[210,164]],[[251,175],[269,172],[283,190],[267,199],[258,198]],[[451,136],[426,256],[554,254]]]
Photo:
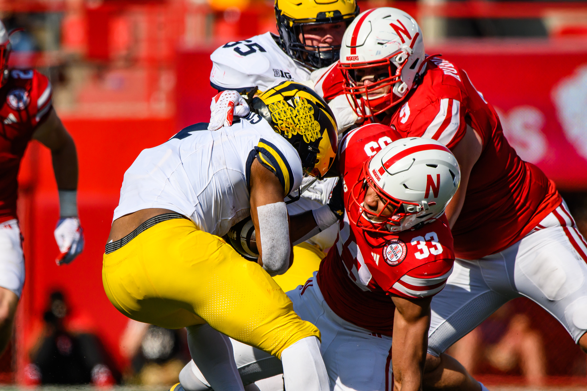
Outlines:
[[147,208],[188,216],[198,229],[223,236],[250,215],[249,176],[257,154],[285,193],[302,183],[302,162],[285,138],[257,114],[208,131],[184,128],[167,142],[144,149],[124,174],[113,220]]

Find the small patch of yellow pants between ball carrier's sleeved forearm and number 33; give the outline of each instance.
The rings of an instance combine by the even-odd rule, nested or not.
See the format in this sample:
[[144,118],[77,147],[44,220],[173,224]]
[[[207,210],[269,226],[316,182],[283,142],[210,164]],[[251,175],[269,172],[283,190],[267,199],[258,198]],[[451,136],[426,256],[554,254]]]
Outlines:
[[303,242],[294,246],[294,264],[281,276],[273,279],[284,292],[291,291],[298,285],[303,285],[320,267],[320,262],[326,256],[318,247]]

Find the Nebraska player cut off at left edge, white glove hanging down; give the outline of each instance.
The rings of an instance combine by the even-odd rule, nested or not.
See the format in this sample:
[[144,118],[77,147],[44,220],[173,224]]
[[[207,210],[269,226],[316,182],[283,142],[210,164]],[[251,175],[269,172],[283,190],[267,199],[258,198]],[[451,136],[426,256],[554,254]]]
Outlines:
[[21,232],[16,217],[18,169],[31,139],[51,150],[59,188],[60,219],[55,239],[58,264],[83,250],[77,219],[77,155],[73,139],[51,104],[51,84],[32,69],[8,69],[10,42],[0,22],[0,354],[12,334],[16,306],[25,282]]

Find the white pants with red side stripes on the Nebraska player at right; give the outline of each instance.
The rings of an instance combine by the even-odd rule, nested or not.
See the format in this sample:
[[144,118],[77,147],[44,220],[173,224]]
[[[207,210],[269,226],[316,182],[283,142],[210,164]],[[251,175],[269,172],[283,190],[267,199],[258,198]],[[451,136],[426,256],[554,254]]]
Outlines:
[[428,352],[440,355],[522,296],[550,312],[575,342],[587,331],[587,242],[564,202],[507,249],[455,261],[446,287],[431,302]]

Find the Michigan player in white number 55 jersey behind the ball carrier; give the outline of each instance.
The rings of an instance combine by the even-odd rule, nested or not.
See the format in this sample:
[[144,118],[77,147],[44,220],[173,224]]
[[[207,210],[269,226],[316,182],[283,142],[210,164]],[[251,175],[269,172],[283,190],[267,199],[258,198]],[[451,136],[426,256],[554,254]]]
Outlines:
[[342,35],[358,13],[355,0],[275,0],[279,36],[266,32],[216,49],[210,85],[241,92],[306,81],[312,70],[338,61]]

